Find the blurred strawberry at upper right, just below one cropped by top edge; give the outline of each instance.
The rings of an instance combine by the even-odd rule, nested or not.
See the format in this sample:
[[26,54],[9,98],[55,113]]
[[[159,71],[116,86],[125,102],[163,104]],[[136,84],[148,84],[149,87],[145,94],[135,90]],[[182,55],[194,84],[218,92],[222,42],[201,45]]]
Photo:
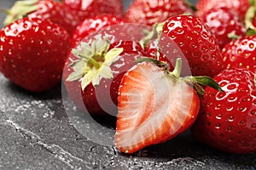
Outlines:
[[202,14],[201,19],[207,23],[215,34],[220,48],[231,41],[229,34],[243,37],[246,34],[246,28],[241,23],[238,14],[230,8],[211,8]]

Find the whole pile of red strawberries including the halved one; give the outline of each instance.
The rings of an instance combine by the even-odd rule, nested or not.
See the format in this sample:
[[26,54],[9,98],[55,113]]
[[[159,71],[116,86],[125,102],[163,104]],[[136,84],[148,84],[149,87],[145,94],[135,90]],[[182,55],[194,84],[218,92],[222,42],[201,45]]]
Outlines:
[[[63,81],[84,114],[116,118],[134,153],[190,129],[256,151],[256,1],[24,0],[0,31],[0,72],[34,93]],[[191,127],[191,128],[190,128]]]

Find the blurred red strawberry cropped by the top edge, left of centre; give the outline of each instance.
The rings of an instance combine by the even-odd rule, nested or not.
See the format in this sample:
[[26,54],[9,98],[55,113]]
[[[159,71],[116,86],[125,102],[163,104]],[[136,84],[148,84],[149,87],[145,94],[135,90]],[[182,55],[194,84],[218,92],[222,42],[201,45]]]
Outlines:
[[88,18],[111,14],[123,17],[123,3],[121,0],[63,0],[63,20],[71,23],[73,28]]

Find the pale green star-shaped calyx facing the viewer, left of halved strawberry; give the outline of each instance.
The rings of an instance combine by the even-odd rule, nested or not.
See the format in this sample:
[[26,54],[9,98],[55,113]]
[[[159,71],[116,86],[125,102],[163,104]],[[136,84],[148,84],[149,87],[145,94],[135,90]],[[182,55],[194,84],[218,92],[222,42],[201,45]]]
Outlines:
[[81,42],[78,48],[72,53],[78,58],[70,65],[73,73],[67,77],[67,82],[81,80],[81,87],[84,90],[90,82],[93,86],[99,85],[101,78],[113,78],[113,71],[110,66],[119,60],[119,54],[123,48],[112,48],[109,50],[108,39],[96,37],[91,44]]

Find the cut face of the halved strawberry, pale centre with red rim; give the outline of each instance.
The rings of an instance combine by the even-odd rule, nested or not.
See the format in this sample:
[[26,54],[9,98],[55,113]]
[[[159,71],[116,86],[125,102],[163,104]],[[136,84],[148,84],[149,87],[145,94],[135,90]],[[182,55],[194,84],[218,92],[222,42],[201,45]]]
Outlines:
[[137,64],[119,87],[115,146],[134,153],[172,139],[195,122],[199,104],[195,90],[185,82],[172,80],[152,63]]

